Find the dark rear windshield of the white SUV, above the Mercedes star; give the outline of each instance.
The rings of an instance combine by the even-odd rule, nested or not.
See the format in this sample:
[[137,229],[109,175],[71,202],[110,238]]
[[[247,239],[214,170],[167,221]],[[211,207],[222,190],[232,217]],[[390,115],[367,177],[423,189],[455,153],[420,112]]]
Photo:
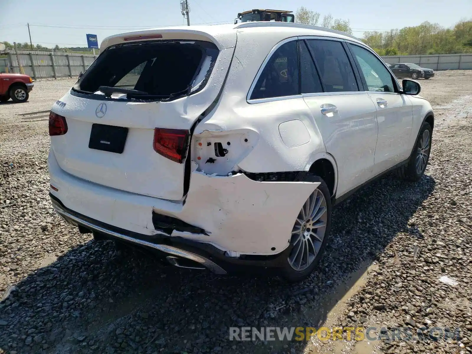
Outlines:
[[110,99],[166,100],[182,97],[205,86],[218,53],[213,43],[203,41],[112,46],[100,54],[72,90],[95,99],[103,99],[100,86],[141,92],[139,95],[113,92]]

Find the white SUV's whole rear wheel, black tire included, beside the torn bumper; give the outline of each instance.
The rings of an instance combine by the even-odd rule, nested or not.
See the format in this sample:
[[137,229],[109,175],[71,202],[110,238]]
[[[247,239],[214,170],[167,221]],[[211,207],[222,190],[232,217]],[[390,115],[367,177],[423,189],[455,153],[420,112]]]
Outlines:
[[[328,243],[329,230],[331,229],[331,196],[325,181],[318,176],[312,175],[305,175],[297,180],[305,182],[320,182],[321,184],[308,197],[298,214],[297,220],[303,218],[303,224],[294,220],[294,231],[297,231],[298,229],[300,231],[291,236],[291,251],[280,272],[280,276],[289,283],[300,282],[310,276],[323,256],[324,249]],[[322,198],[319,199],[320,197]],[[312,205],[313,207],[311,207]],[[322,211],[322,208],[324,208],[324,211]],[[314,214],[316,219],[308,216],[306,218],[303,217],[304,214],[306,214],[307,209],[312,209],[311,215]],[[315,209],[317,211],[315,211]],[[310,228],[313,220],[317,224],[324,224],[321,227],[317,227],[316,232],[313,231],[315,228]],[[321,237],[322,235],[321,241],[316,238],[313,233],[318,235],[318,237]],[[310,238],[311,244],[308,238]],[[306,249],[308,251],[317,250],[317,252],[307,253],[307,259],[309,261],[303,261],[305,248],[303,248],[302,253],[300,253],[301,247],[307,247]],[[303,257],[300,257],[300,254],[302,254]]]

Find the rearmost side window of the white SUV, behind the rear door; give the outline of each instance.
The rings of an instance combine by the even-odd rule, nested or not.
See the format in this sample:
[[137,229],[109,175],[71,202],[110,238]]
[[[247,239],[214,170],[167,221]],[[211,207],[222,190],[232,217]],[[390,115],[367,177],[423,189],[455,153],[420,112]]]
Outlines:
[[251,100],[299,93],[297,41],[282,44],[262,69],[251,94]]

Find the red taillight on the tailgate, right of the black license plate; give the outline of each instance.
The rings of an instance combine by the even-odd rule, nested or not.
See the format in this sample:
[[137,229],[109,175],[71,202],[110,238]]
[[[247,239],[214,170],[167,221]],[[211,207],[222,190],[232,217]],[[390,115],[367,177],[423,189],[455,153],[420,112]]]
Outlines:
[[182,163],[187,149],[188,130],[180,129],[154,129],[154,151],[167,157],[169,160]]

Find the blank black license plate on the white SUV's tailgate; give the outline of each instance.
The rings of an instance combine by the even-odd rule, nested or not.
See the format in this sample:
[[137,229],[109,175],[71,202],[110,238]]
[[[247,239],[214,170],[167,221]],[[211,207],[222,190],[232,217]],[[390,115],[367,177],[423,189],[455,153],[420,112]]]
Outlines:
[[89,148],[95,150],[122,153],[125,149],[128,128],[123,126],[107,126],[92,124]]

